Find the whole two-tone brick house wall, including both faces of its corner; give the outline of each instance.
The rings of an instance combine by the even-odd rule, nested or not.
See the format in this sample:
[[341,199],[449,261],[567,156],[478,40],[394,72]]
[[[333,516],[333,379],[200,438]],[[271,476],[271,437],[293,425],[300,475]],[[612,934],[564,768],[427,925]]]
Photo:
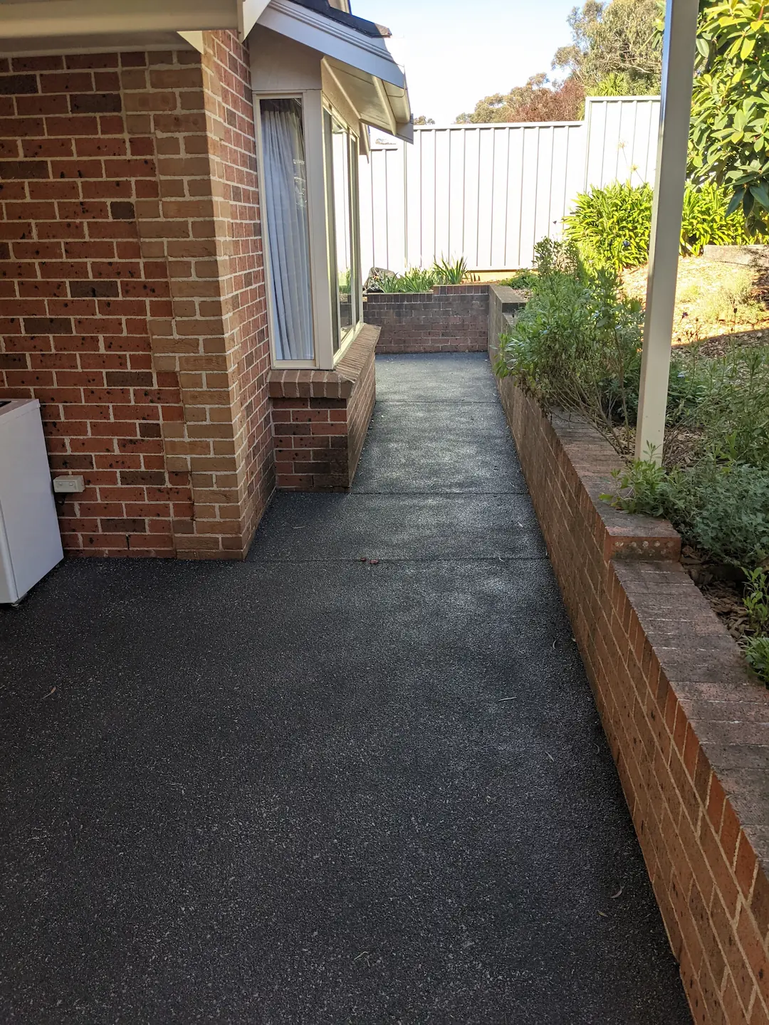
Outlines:
[[65,546],[240,557],[274,484],[245,51],[0,60],[0,395],[83,474]]

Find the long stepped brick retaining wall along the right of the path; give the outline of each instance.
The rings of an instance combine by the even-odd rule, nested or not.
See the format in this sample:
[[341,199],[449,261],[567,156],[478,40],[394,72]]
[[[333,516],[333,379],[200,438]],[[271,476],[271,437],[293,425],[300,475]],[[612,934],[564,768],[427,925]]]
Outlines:
[[608,443],[498,384],[694,1021],[767,1023],[769,692],[670,525],[599,498]]

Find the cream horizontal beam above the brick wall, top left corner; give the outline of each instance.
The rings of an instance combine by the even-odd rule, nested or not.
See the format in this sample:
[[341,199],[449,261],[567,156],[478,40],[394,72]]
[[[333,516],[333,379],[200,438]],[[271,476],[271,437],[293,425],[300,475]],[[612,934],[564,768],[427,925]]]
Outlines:
[[[256,6],[259,0],[255,0]],[[249,4],[249,6],[251,6]],[[0,39],[235,29],[244,0],[38,0],[0,3]],[[250,27],[249,27],[250,28]]]

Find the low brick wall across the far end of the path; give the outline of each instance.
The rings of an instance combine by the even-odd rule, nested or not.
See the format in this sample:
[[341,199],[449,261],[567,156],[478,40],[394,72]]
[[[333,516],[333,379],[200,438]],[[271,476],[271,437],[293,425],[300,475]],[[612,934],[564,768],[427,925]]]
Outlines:
[[488,344],[489,286],[372,292],[364,319],[381,328],[377,353],[481,353]]

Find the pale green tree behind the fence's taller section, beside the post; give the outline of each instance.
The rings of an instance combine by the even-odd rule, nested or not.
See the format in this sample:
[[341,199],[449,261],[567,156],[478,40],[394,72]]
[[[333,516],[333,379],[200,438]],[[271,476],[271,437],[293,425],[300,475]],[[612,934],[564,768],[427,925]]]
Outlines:
[[569,15],[573,42],[553,68],[582,84],[585,93],[648,95],[659,91],[662,61],[657,0],[586,0]]

